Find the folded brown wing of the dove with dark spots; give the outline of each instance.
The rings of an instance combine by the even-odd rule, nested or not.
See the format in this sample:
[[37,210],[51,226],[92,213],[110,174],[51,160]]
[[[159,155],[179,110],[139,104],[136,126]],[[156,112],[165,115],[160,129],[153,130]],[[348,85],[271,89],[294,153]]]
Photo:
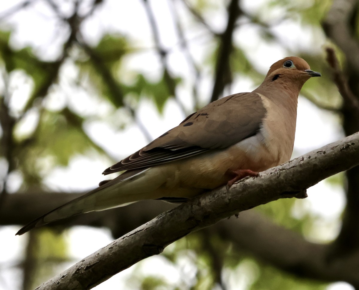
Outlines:
[[256,93],[234,94],[214,101],[189,115],[144,148],[103,174],[148,168],[232,146],[260,129],[266,109]]

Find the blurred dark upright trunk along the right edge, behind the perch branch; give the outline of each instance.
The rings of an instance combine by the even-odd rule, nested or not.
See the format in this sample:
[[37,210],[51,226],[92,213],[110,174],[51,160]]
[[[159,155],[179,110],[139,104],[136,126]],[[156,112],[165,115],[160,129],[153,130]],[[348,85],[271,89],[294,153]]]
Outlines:
[[[344,101],[341,109],[343,128],[347,136],[359,130],[359,114],[356,105],[353,106],[358,103],[359,99],[359,42],[356,37],[356,22],[353,21],[357,13],[358,1],[335,0],[323,23],[326,35],[344,52],[346,57],[345,74],[349,85],[349,95],[345,88],[340,90],[342,90]],[[329,60],[334,66],[336,65],[330,58]],[[334,255],[340,252],[349,253],[358,249],[359,246],[359,167],[348,170],[346,177],[347,202],[342,227],[333,247]]]

